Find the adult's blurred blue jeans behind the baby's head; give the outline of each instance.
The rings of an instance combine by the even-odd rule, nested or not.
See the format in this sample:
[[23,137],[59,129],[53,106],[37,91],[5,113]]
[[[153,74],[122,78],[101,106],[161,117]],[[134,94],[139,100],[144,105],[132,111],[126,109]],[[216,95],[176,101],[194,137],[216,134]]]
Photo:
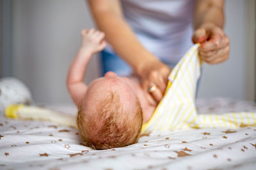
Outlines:
[[[104,76],[105,73],[108,71],[113,71],[118,76],[129,76],[132,73],[132,68],[129,66],[123,59],[120,59],[116,53],[110,53],[103,50],[101,52],[101,67],[102,67],[102,76]],[[173,68],[175,67],[177,63],[170,63],[167,64],[169,67]],[[202,75],[202,67],[201,69],[201,75]],[[196,97],[198,95],[198,89],[199,89],[199,83],[200,78],[198,78],[196,83]]]

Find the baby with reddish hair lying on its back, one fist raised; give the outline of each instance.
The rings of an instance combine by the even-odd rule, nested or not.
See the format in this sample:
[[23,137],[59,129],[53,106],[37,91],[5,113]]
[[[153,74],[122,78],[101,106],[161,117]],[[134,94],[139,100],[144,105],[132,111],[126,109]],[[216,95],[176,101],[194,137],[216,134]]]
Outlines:
[[84,29],[81,35],[81,48],[68,71],[67,87],[78,108],[77,127],[83,144],[108,149],[136,143],[156,104],[148,101],[137,76],[118,77],[109,71],[87,86],[83,79],[88,62],[106,47],[106,41],[104,33],[95,29]]

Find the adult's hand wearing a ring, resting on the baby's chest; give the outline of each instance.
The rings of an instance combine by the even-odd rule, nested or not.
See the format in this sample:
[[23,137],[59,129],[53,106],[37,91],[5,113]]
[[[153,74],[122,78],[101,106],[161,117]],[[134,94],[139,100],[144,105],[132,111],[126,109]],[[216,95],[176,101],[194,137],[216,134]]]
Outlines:
[[161,101],[170,72],[170,67],[157,59],[143,66],[140,72],[141,85],[150,104],[156,105]]

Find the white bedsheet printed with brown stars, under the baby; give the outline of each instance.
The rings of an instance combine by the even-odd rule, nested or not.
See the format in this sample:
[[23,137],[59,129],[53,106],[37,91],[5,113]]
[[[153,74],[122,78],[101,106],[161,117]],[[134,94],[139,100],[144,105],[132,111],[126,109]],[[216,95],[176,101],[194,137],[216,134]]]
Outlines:
[[[199,99],[199,113],[256,111],[253,103]],[[74,107],[55,106],[76,114]],[[76,129],[0,116],[0,169],[255,169],[256,127],[155,132],[124,148],[92,150]]]

